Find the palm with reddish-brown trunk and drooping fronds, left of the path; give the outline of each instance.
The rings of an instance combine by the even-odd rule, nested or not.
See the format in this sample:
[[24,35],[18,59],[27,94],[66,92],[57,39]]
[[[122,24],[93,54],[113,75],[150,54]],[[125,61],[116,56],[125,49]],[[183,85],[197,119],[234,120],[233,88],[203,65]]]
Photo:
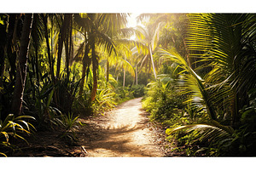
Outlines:
[[93,88],[90,94],[90,100],[96,98],[97,89],[97,65],[98,56],[96,46],[103,48],[108,55],[115,53],[115,45],[111,37],[114,31],[125,23],[125,14],[85,14],[84,17],[76,15],[76,22],[79,26],[84,27],[88,44],[91,50],[91,63],[93,70]]

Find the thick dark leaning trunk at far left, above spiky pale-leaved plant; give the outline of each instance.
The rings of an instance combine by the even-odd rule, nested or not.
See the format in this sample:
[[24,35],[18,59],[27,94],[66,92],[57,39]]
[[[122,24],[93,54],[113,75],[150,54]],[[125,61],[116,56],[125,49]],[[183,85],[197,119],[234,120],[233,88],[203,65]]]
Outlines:
[[25,20],[22,27],[21,39],[20,39],[20,54],[17,64],[15,91],[13,95],[12,112],[19,116],[21,114],[23,93],[26,82],[26,66],[28,58],[28,50],[30,43],[30,34],[32,30],[32,17],[33,14],[25,14]]

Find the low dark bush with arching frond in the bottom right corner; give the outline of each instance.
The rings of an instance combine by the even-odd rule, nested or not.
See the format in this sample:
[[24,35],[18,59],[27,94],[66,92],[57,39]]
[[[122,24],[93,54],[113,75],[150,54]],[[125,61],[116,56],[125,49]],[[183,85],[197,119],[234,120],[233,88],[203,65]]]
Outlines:
[[233,130],[218,122],[210,124],[211,121],[205,120],[207,124],[189,124],[168,128],[166,130],[166,133],[170,135],[168,139],[176,139],[177,150],[183,148],[187,156],[255,156],[255,94],[256,91],[250,90],[250,105],[240,111],[241,127],[239,129]]

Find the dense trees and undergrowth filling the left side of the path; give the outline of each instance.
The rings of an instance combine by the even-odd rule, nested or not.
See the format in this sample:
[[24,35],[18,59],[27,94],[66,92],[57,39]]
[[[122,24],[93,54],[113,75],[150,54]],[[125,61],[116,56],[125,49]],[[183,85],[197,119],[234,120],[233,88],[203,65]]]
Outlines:
[[1,156],[42,131],[73,144],[75,129],[84,126],[79,116],[103,115],[143,95],[145,71],[135,80],[135,66],[125,59],[135,46],[125,39],[134,33],[126,17],[0,14]]

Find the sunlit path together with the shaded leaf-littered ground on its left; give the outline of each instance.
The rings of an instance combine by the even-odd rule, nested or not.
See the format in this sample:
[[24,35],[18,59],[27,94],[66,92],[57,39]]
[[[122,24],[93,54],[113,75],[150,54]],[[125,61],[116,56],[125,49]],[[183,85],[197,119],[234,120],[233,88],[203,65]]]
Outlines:
[[38,132],[13,156],[167,156],[165,129],[148,122],[141,99],[126,101],[104,116],[80,117],[84,126],[77,128],[78,141],[73,144],[58,132]]

